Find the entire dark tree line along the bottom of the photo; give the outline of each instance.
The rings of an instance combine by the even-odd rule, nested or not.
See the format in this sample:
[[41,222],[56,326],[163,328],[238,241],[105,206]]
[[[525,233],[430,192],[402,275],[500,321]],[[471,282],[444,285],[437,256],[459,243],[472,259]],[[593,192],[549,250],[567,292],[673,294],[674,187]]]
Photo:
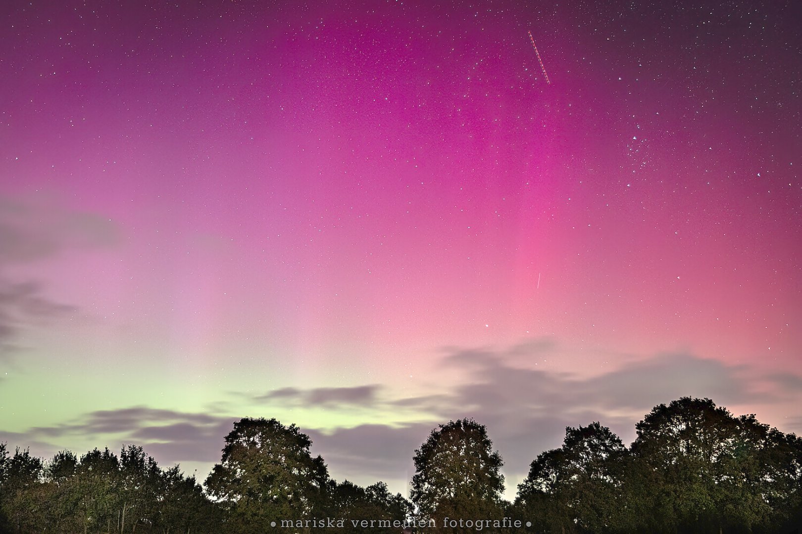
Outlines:
[[0,532],[537,532],[780,534],[802,526],[802,439],[710,399],[660,404],[627,448],[594,422],[566,428],[502,498],[484,425],[441,424],[415,451],[409,499],[329,476],[294,424],[245,418],[204,484],[143,448],[44,461],[0,444]]

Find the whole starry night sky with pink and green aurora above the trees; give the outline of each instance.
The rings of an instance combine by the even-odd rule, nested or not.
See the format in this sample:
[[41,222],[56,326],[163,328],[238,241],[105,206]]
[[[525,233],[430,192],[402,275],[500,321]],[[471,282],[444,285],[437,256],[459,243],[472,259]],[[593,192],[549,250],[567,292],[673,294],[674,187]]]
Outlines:
[[122,3],[0,6],[12,450],[203,479],[276,417],[406,492],[465,416],[508,488],[683,395],[802,432],[797,2]]

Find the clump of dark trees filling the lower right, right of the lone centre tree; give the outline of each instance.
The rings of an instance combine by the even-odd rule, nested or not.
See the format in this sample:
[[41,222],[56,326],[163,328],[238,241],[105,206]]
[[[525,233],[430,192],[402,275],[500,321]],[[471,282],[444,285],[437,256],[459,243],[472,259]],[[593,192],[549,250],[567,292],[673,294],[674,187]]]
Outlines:
[[800,532],[802,440],[710,399],[661,404],[626,449],[598,423],[567,428],[512,505],[529,532]]

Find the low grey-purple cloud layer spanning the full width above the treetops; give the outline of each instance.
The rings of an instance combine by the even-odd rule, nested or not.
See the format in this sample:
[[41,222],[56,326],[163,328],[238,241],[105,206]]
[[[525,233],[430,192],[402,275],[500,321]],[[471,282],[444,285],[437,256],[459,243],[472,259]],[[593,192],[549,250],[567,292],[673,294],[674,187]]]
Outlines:
[[[739,406],[771,404],[800,395],[798,376],[769,374],[755,380],[755,371],[749,367],[683,353],[662,354],[581,378],[521,365],[520,356],[526,356],[527,350],[542,354],[553,350],[553,345],[534,342],[511,351],[452,348],[442,360],[444,370],[459,369],[470,379],[431,395],[394,398],[383,387],[371,384],[286,387],[251,400],[265,406],[265,412],[271,405],[282,405],[317,408],[333,415],[354,407],[387,414],[387,424],[334,430],[282,421],[300,424],[313,440],[313,452],[324,457],[332,476],[360,483],[409,480],[415,448],[429,432],[448,420],[472,417],[487,425],[494,446],[504,457],[508,486],[514,487],[538,454],[561,444],[566,426],[600,421],[626,442],[634,438],[634,424],[651,408],[681,396],[708,397],[722,406]],[[408,411],[427,415],[411,423],[391,422],[399,412]],[[89,435],[98,436],[102,444],[101,436],[116,436],[124,443],[142,444],[164,464],[206,462],[211,466],[220,460],[225,435],[237,419],[135,407],[91,412],[67,424],[30,428],[25,434],[0,433],[0,440],[67,444],[71,436]]]

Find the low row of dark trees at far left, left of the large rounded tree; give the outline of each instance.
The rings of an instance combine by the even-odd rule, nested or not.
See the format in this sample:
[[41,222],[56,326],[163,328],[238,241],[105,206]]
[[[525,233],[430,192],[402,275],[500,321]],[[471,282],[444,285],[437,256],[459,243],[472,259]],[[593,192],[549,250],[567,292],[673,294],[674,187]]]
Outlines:
[[220,532],[216,505],[178,466],[164,472],[143,448],[94,449],[43,462],[0,444],[0,532]]

